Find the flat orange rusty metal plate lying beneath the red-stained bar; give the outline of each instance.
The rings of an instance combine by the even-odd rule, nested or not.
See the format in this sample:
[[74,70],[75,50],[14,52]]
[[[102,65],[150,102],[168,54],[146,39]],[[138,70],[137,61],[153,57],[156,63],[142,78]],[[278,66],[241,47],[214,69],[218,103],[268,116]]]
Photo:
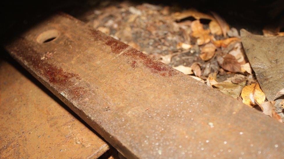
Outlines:
[[0,61],[0,158],[98,158],[109,149],[35,81]]

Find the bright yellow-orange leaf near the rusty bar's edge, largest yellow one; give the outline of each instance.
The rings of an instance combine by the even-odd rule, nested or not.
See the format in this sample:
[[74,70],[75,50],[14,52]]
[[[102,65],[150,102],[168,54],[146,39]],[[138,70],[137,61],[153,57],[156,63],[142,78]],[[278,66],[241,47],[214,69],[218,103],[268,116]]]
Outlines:
[[250,107],[261,105],[264,103],[266,98],[258,83],[245,86],[242,90],[241,96],[243,103]]

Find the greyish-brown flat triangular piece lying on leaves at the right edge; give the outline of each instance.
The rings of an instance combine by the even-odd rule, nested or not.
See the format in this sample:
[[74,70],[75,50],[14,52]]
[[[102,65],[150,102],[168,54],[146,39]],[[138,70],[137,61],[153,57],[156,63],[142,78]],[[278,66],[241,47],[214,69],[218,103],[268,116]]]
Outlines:
[[[254,35],[246,30],[241,31],[242,43],[246,55],[255,72],[261,89],[270,101],[284,88],[284,37],[264,37]],[[282,112],[279,104],[283,96],[277,98],[276,108]],[[281,116],[284,117],[283,113]]]

